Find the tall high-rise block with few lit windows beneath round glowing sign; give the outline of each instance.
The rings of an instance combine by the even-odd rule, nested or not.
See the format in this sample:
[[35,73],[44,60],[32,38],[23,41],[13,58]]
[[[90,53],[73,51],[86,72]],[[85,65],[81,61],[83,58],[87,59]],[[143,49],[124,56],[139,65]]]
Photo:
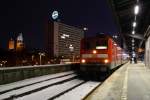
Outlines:
[[49,57],[79,57],[82,29],[60,22],[48,23],[46,29],[46,51]]

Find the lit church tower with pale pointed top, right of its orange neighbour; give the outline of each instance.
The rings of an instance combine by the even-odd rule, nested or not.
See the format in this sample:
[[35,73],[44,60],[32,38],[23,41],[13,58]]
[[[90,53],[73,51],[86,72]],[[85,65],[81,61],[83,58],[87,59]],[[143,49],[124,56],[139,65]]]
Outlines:
[[16,41],[16,51],[21,51],[23,48],[24,48],[23,36],[22,33],[20,33]]

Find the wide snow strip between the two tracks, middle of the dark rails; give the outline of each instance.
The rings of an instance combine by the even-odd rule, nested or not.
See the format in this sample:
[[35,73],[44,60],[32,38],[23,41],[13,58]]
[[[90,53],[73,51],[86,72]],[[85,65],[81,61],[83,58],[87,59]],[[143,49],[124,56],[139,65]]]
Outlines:
[[61,85],[52,86],[42,91],[35,92],[21,98],[17,98],[17,100],[48,100],[53,96],[56,96],[59,93],[62,93],[63,91],[66,91],[82,82],[83,82],[82,80],[74,79],[72,81],[65,82]]

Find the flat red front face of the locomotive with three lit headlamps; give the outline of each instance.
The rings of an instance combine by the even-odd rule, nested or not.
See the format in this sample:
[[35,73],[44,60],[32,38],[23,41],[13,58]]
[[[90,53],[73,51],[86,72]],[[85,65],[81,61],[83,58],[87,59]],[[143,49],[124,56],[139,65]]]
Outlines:
[[80,71],[107,72],[110,66],[108,37],[83,39],[80,56]]

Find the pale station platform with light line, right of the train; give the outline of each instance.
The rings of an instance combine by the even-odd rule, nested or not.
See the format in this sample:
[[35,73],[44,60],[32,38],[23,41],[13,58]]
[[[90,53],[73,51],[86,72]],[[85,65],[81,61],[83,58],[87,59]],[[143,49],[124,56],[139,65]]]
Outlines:
[[150,100],[150,69],[142,62],[127,63],[85,100]]

